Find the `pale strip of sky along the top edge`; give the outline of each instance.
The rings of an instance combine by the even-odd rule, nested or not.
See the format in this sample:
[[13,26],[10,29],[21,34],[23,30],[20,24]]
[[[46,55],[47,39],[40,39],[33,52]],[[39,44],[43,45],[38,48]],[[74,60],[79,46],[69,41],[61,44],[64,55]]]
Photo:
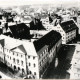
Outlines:
[[80,0],[0,0],[0,7],[20,6],[30,4],[73,4],[77,5]]

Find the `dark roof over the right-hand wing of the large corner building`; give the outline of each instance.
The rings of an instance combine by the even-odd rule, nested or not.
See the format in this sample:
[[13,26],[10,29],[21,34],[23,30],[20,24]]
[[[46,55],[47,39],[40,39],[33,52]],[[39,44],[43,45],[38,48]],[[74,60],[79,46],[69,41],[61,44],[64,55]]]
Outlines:
[[33,43],[36,51],[38,52],[46,45],[50,45],[51,43],[55,45],[60,39],[61,39],[60,33],[52,30],[46,35],[44,35],[42,38],[38,39],[37,41],[34,41]]

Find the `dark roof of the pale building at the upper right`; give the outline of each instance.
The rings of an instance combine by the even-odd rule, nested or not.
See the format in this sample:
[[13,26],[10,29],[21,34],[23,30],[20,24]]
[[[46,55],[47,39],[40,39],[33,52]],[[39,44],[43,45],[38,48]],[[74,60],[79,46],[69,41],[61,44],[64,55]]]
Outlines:
[[77,29],[77,25],[74,23],[73,20],[69,20],[66,22],[62,22],[60,23],[60,26],[62,27],[62,29],[67,33],[70,32],[74,29]]

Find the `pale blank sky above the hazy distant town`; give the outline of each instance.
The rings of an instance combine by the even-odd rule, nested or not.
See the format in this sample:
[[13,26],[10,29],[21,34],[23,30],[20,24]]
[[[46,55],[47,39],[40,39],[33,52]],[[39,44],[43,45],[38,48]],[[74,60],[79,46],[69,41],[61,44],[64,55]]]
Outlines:
[[0,7],[14,7],[14,6],[23,6],[23,5],[53,5],[64,6],[64,7],[79,7],[79,0],[0,0]]

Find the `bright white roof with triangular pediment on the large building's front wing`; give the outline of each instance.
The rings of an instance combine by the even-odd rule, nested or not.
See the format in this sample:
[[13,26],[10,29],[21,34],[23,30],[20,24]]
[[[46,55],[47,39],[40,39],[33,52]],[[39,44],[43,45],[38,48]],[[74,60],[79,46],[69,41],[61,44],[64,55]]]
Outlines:
[[22,41],[9,36],[1,35],[0,44],[2,44],[5,48],[15,52],[37,56],[33,42]]

